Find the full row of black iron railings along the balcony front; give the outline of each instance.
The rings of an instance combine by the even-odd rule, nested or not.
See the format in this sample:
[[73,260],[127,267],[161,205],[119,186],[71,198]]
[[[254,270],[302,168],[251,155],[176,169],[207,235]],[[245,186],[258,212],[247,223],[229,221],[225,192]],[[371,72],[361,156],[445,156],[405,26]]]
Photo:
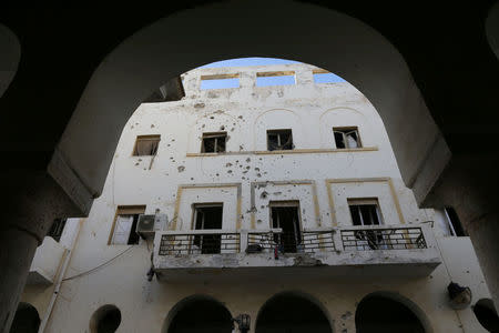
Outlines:
[[358,225],[306,229],[301,233],[267,230],[191,230],[159,234],[159,255],[218,253],[316,253],[428,249],[426,226]]

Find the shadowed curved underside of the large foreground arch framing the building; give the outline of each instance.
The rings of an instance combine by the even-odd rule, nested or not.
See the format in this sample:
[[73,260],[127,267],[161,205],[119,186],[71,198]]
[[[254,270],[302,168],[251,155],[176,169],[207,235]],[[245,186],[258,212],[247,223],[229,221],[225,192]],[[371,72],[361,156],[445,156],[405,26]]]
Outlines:
[[[189,26],[192,21],[203,33]],[[450,152],[406,62],[380,33],[314,4],[227,1],[163,18],[113,50],[90,79],[49,173],[88,212],[102,191],[121,131],[141,101],[190,69],[247,56],[315,64],[359,89],[378,110],[403,178],[420,201],[447,164]]]

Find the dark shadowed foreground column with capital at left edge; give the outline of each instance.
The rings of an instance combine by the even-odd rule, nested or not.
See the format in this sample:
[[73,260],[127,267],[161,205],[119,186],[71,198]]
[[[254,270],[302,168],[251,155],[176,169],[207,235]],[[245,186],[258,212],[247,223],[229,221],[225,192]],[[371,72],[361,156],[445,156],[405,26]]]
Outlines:
[[0,332],[8,333],[38,245],[57,218],[81,213],[44,171],[3,171],[0,222]]

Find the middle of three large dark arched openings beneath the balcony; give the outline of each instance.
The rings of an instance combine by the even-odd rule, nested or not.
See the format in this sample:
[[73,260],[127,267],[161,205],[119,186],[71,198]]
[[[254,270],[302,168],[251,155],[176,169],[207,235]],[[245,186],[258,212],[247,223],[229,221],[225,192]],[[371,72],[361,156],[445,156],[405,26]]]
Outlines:
[[320,304],[309,296],[285,292],[269,299],[258,312],[256,333],[332,333],[329,320]]

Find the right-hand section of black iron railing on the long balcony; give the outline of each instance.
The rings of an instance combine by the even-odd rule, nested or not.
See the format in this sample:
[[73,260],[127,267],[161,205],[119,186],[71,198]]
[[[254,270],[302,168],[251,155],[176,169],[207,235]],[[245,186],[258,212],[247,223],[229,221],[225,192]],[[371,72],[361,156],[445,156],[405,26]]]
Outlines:
[[344,229],[344,250],[406,250],[427,249],[421,228],[364,228]]

